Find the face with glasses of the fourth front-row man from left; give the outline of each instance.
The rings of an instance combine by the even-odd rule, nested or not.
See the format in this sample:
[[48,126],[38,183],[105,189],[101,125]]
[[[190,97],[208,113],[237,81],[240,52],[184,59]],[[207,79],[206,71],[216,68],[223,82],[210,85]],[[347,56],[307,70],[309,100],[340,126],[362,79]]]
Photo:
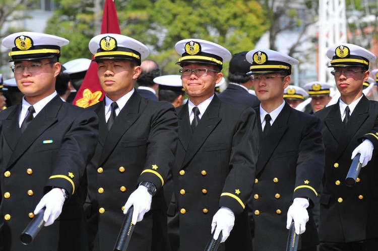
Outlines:
[[256,96],[262,103],[282,103],[284,89],[290,84],[290,76],[280,76],[283,76],[282,73],[254,75]]

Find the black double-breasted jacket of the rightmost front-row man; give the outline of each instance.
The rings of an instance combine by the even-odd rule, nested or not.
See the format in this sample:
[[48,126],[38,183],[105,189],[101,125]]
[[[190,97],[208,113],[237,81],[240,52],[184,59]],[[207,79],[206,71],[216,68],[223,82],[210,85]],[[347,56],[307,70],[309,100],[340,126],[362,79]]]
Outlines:
[[[321,241],[351,242],[378,237],[378,102],[365,96],[353,110],[346,128],[339,102],[314,115],[323,122],[326,146],[325,183],[321,196],[319,237]],[[345,185],[353,150],[369,139],[374,145],[371,160],[354,186]]]

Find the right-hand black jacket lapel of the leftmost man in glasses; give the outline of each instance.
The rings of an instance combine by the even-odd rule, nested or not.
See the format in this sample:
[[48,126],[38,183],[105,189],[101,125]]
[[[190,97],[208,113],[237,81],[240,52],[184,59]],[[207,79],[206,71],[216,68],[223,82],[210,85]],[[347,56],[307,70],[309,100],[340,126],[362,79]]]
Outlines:
[[[63,101],[56,95],[45,107],[38,113],[37,116],[30,122],[26,128],[24,135],[27,137],[20,137],[15,150],[9,160],[8,168],[24,154],[24,152],[34,143],[34,141],[46,131],[57,119],[57,114]],[[21,133],[21,132],[20,132]]]

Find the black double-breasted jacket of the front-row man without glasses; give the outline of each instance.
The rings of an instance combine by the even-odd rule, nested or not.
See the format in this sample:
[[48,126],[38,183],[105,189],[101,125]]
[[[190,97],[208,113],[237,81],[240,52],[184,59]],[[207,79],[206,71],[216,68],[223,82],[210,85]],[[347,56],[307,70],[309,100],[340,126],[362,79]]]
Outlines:
[[156,250],[168,250],[163,246],[168,243],[168,237],[162,187],[174,161],[175,109],[166,102],[142,98],[134,91],[108,131],[104,107],[105,101],[90,107],[99,117],[96,153],[87,168],[90,239],[93,241],[97,234],[99,250],[112,250],[124,219],[124,204],[140,182],[150,181],[157,193],[152,198],[151,211],[136,224],[129,249],[151,250],[154,232],[155,235],[165,233],[156,240],[163,244],[152,243]]

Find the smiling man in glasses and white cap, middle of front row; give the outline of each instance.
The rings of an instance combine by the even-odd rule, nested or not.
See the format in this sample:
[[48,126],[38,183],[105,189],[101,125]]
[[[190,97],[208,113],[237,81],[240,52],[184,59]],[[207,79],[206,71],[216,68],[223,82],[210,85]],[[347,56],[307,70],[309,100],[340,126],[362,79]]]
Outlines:
[[177,108],[172,168],[179,250],[203,250],[215,227],[214,238],[222,232],[225,241],[221,250],[251,250],[246,203],[255,179],[256,113],[214,94],[223,62],[231,58],[226,48],[201,39],[181,40],[175,48],[189,96]]

